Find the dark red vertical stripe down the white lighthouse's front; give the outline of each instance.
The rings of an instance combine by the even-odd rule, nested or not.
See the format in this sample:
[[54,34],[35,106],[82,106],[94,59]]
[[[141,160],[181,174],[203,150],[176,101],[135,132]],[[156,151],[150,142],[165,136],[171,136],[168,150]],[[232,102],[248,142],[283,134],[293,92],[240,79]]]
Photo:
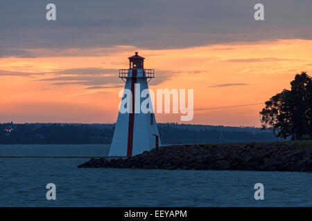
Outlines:
[[132,148],[133,148],[133,127],[135,125],[135,84],[136,83],[137,83],[137,70],[132,70],[132,78],[131,78],[132,113],[129,113],[127,157],[132,156]]

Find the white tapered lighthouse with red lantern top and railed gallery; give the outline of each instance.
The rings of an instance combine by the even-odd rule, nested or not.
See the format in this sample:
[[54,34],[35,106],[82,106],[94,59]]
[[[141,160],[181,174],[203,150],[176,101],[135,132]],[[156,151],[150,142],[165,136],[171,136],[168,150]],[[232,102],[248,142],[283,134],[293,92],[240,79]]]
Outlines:
[[150,95],[144,98],[141,97],[141,93],[148,90],[148,82],[155,77],[154,70],[144,68],[145,58],[139,56],[138,52],[128,59],[129,68],[119,69],[119,77],[125,82],[122,99],[129,96],[125,91],[130,92],[130,106],[126,113],[121,111],[121,106],[119,107],[110,156],[131,157],[160,146],[154,111],[137,111],[146,99],[150,105],[148,109],[153,110]]

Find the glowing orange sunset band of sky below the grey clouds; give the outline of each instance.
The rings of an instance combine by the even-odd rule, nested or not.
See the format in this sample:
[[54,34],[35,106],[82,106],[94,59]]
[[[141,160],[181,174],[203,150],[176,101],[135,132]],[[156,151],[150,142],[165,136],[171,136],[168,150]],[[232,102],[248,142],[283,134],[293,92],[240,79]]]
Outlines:
[[[311,48],[312,41],[290,39],[175,50],[116,46],[103,48],[113,52],[96,57],[7,57],[0,60],[0,69],[8,73],[0,77],[0,121],[116,122],[123,81],[117,71],[106,73],[106,69],[128,68],[127,58],[136,50],[146,57],[146,68],[155,69],[156,78],[150,81],[150,88],[193,88],[195,109],[261,103],[289,88],[295,73],[311,71]],[[85,73],[69,71],[81,68],[85,68]],[[99,73],[89,74],[92,68],[99,69]],[[102,79],[107,84],[88,85],[88,81]],[[195,111],[193,120],[184,123],[259,126],[262,107]],[[157,115],[157,120],[179,122],[180,115]]]

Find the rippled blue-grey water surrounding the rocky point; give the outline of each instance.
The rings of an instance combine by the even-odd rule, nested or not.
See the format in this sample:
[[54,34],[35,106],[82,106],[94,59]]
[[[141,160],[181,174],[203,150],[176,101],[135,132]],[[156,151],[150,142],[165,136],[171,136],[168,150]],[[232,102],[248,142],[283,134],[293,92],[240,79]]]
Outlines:
[[[0,155],[100,156],[107,145],[0,145]],[[312,206],[312,173],[78,169],[87,159],[0,158],[0,206]],[[57,200],[46,200],[46,184]],[[265,200],[254,200],[254,184]]]

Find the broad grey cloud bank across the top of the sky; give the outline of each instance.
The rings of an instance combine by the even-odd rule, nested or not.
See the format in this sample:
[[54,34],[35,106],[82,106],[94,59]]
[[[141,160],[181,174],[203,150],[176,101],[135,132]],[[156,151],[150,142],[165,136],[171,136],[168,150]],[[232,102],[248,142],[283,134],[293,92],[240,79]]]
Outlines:
[[[44,56],[26,51],[34,48],[71,56],[75,53],[67,51],[70,48],[80,48],[80,52],[114,46],[169,49],[312,39],[311,0],[266,1],[265,21],[254,20],[254,2],[250,1],[53,0],[56,21],[46,21],[47,3],[18,1],[17,6],[16,0],[1,2],[0,57]],[[96,50],[92,52],[96,55]]]

